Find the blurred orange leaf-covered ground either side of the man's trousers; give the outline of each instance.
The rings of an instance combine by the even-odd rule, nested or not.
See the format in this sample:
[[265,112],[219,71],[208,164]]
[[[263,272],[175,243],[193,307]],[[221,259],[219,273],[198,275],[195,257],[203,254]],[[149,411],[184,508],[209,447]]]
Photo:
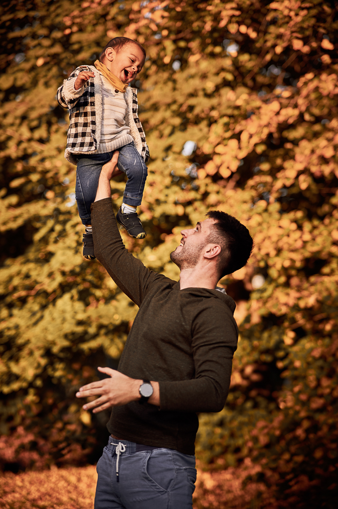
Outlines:
[[[217,472],[198,469],[194,509],[259,509],[269,495],[261,483],[242,489],[253,465]],[[0,476],[2,509],[93,509],[97,473],[93,465]]]

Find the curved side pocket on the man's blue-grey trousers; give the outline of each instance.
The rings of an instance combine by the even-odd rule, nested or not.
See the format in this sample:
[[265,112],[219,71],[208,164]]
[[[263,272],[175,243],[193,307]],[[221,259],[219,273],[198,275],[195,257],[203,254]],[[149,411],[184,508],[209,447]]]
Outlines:
[[176,469],[173,465],[170,451],[165,449],[151,451],[145,462],[145,471],[148,482],[153,488],[169,491],[176,478]]

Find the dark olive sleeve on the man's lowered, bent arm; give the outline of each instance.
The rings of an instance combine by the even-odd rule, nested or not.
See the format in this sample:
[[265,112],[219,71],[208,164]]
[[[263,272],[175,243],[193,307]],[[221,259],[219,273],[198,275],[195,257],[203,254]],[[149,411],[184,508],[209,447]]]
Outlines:
[[160,409],[220,412],[226,402],[237,348],[238,329],[230,309],[214,301],[199,312],[192,326],[195,378],[159,382]]

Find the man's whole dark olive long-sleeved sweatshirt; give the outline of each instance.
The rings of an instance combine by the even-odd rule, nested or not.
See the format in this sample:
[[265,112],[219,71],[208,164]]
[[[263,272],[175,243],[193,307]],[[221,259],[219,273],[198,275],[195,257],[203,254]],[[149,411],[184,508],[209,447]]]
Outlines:
[[125,248],[111,199],[92,205],[95,255],[138,313],[118,371],[160,385],[160,408],[114,407],[108,431],[132,442],[193,455],[196,412],[220,412],[230,385],[238,329],[235,302],[218,290],[185,288],[147,269]]

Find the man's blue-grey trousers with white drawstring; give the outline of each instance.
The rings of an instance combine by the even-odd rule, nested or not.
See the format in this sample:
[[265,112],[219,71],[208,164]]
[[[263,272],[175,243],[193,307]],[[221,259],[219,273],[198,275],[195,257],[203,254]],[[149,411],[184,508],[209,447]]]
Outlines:
[[[117,481],[119,442],[126,450],[118,458]],[[94,509],[192,509],[195,456],[173,449],[140,448],[128,440],[109,438],[97,465]]]

